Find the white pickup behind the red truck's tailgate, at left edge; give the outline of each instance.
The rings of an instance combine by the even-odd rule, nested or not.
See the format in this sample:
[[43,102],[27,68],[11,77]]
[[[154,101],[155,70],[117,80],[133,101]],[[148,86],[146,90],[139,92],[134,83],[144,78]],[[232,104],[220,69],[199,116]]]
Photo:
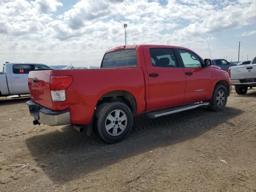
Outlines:
[[28,73],[37,69],[52,69],[39,63],[9,63],[3,64],[0,72],[0,96],[29,94]]

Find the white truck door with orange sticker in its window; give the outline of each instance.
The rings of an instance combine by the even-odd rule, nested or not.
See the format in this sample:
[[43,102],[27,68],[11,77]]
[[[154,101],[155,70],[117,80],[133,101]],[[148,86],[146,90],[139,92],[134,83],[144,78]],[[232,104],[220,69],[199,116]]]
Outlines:
[[16,94],[28,94],[28,73],[33,70],[32,65],[14,64],[11,69],[12,89]]

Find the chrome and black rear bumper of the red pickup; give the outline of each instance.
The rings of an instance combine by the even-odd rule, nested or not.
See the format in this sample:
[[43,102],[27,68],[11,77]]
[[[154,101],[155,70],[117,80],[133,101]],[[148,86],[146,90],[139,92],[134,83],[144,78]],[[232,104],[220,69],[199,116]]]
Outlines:
[[27,101],[30,114],[38,120],[40,124],[49,126],[68,125],[70,124],[70,112],[64,111],[53,111],[38,105],[33,101]]

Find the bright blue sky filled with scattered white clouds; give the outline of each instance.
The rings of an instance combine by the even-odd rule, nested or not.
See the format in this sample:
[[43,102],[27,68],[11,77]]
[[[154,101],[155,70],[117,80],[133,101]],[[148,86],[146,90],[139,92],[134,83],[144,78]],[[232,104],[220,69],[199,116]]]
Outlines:
[[[203,58],[256,56],[256,0],[0,0],[0,64],[99,66],[128,44],[190,48]],[[2,66],[0,66],[2,67]]]

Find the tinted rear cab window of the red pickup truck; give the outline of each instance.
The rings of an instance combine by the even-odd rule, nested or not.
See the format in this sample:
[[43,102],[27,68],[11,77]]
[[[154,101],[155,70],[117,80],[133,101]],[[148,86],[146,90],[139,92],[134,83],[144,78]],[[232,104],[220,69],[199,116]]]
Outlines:
[[102,68],[123,66],[137,66],[137,54],[135,49],[107,53],[102,61]]

